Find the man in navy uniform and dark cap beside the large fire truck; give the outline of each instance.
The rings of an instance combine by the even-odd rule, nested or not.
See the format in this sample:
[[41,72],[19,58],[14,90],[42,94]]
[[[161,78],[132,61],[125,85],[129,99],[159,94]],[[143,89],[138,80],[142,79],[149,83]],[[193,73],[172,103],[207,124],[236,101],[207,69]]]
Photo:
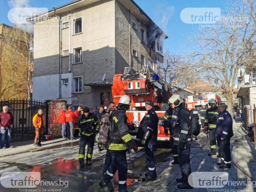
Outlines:
[[156,115],[155,108],[153,106],[154,102],[152,100],[147,100],[145,102],[147,114],[140,122],[136,137],[137,139],[142,140],[142,145],[145,145],[145,155],[148,164],[148,173],[145,174],[146,177],[142,178],[142,181],[153,181],[156,180],[157,176],[153,145],[156,145],[157,142],[158,116]]

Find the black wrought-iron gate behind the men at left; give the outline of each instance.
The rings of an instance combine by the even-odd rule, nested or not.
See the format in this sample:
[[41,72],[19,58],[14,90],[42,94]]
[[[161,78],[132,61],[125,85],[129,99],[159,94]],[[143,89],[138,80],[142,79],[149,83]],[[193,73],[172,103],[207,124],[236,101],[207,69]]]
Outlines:
[[[28,101],[21,99],[0,101],[0,110],[8,106],[14,117],[14,124],[11,133],[11,142],[21,142],[35,139],[35,128],[33,126],[33,116],[37,114],[39,108],[43,109],[45,122],[48,122],[48,104],[41,101]],[[44,134],[48,134],[48,124],[45,123]]]

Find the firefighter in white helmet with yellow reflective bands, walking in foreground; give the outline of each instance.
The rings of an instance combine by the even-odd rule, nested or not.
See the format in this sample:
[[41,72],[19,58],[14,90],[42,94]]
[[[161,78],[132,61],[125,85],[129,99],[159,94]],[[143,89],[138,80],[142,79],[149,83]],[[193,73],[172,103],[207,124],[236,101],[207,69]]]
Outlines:
[[112,191],[108,185],[117,170],[119,178],[118,191],[127,191],[126,179],[128,168],[126,151],[128,151],[128,148],[134,151],[138,150],[135,141],[132,140],[129,134],[128,118],[125,114],[126,110],[130,107],[130,103],[130,98],[127,95],[123,95],[119,100],[117,110],[113,111],[110,115],[111,131],[109,133],[107,149],[111,153],[111,164],[108,167],[106,175],[104,175],[102,181],[99,182],[99,186],[103,188],[104,191]]

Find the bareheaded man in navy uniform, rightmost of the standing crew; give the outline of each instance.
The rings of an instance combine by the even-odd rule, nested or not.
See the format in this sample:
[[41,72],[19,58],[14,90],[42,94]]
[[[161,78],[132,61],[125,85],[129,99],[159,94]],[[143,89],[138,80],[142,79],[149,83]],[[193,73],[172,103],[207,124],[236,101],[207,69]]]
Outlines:
[[231,154],[230,154],[230,139],[234,135],[233,133],[233,120],[231,115],[226,110],[226,104],[220,103],[218,106],[219,117],[216,126],[215,136],[219,141],[219,153],[221,162],[219,168],[231,168]]

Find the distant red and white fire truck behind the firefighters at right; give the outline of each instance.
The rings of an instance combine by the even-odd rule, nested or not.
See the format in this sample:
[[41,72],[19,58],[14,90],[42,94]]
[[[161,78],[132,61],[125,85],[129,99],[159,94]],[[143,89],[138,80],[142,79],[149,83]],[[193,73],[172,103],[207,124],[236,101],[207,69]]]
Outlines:
[[208,106],[208,101],[210,99],[215,99],[217,101],[217,105],[221,103],[221,98],[220,96],[216,94],[209,94],[209,95],[196,95],[196,96],[188,96],[187,99],[185,99],[187,109],[195,109],[195,108],[200,108],[202,107],[202,104],[205,104],[206,107],[209,108]]

